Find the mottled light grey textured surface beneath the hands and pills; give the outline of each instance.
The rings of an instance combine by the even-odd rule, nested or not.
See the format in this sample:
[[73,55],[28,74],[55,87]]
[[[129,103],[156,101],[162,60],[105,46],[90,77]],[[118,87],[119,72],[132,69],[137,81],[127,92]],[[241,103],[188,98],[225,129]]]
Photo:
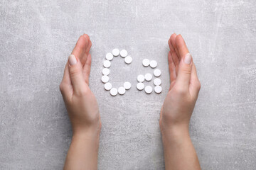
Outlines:
[[[99,169],[164,169],[159,111],[169,88],[167,40],[181,33],[202,88],[191,138],[203,169],[256,167],[256,2],[0,1],[0,169],[62,169],[72,131],[58,85],[82,33],[92,40],[90,85],[102,118]],[[132,82],[110,96],[100,81],[105,53],[110,81]],[[163,93],[135,88],[149,58],[159,63]],[[150,83],[152,84],[152,82]]]

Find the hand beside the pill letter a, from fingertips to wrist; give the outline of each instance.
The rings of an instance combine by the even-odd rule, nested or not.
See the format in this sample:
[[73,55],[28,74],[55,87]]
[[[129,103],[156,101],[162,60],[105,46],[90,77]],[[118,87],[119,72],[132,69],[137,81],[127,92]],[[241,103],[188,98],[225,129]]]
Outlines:
[[163,134],[169,134],[174,128],[188,130],[189,120],[201,88],[192,56],[181,35],[171,35],[169,47],[171,85],[161,109],[159,122]]

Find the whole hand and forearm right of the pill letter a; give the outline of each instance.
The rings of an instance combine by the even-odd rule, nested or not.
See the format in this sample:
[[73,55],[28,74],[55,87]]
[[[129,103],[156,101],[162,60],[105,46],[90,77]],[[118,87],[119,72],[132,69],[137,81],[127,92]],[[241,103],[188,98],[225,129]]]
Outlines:
[[171,84],[159,120],[165,168],[201,169],[188,130],[201,83],[182,36],[174,33],[168,43]]

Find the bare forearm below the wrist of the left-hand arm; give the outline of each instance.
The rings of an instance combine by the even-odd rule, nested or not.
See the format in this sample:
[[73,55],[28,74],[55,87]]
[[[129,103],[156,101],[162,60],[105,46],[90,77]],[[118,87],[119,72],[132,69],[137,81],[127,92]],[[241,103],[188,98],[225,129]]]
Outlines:
[[63,169],[97,169],[100,134],[74,134]]

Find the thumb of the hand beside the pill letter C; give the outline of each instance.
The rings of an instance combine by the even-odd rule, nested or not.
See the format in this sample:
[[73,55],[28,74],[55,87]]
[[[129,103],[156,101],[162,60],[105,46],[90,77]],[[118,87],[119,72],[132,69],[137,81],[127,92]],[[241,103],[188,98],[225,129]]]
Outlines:
[[82,94],[85,91],[85,78],[82,74],[82,64],[75,55],[68,57],[68,70],[74,93]]

